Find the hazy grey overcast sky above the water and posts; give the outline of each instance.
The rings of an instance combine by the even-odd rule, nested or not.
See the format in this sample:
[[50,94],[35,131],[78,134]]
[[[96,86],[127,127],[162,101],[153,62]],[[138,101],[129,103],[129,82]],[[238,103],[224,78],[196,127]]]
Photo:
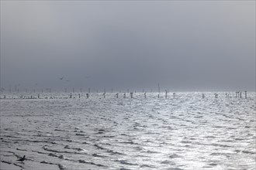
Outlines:
[[255,1],[1,1],[1,87],[158,83],[255,90]]

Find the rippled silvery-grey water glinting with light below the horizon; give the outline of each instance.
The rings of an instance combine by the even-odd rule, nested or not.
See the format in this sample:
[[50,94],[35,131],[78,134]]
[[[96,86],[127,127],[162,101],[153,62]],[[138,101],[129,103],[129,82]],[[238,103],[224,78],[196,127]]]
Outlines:
[[1,168],[255,169],[255,93],[231,94],[12,94],[1,100]]

